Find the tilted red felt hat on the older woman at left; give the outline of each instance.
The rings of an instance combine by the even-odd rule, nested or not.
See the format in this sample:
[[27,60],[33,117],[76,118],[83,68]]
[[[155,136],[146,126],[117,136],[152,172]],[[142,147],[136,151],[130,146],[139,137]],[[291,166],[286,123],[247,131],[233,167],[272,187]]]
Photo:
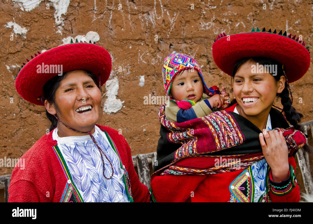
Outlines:
[[111,56],[103,47],[91,41],[79,43],[77,39],[75,43],[71,40],[69,44],[38,52],[31,60],[26,60],[16,77],[15,88],[23,99],[37,105],[43,105],[40,98],[44,97],[44,84],[57,76],[61,68],[63,74],[77,69],[89,70],[100,77],[103,85],[112,67]]

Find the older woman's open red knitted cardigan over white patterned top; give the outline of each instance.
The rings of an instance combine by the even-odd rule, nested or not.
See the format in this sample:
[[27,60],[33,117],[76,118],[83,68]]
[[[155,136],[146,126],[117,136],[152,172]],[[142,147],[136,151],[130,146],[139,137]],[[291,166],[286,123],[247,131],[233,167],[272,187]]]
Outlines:
[[[123,135],[113,128],[97,125],[105,130],[119,152],[131,184],[134,202],[149,202],[149,190],[142,184],[135,172],[131,149]],[[42,136],[21,157],[25,159],[24,169],[14,167],[9,186],[9,202],[60,202],[68,178],[52,148],[57,141],[52,132]]]

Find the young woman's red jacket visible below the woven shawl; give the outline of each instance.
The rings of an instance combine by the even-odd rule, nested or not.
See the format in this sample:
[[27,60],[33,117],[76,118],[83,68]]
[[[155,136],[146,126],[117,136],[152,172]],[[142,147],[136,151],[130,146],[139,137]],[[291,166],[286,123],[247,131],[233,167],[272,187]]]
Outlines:
[[[234,104],[225,110],[233,111],[236,105],[238,104]],[[186,159],[201,159],[201,157]],[[295,158],[290,156],[288,161],[290,164],[290,175],[285,181],[274,183],[271,178],[271,171],[269,170],[269,175],[266,177],[269,178],[269,181],[273,181],[273,186],[276,187],[269,186],[268,197],[264,201],[300,201],[300,190],[294,173],[296,167]],[[228,202],[231,201],[232,196],[230,192],[231,184],[236,179],[239,180],[240,174],[243,171],[244,169],[211,175],[152,176],[151,190],[156,202]],[[249,187],[251,189],[251,186]],[[249,200],[251,198],[248,197]],[[261,198],[260,202],[262,201],[263,199]]]

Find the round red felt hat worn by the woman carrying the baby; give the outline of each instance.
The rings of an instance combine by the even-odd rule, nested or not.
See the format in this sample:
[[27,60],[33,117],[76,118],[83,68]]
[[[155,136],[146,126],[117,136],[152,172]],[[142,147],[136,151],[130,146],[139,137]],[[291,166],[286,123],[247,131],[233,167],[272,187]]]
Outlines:
[[[233,67],[239,59],[248,57],[267,57],[284,65],[288,82],[300,79],[310,66],[309,47],[296,35],[282,30],[277,34],[269,29],[254,28],[249,33],[226,35],[221,33],[215,39],[212,50],[217,66],[226,74],[232,75]],[[299,42],[298,42],[299,41]],[[302,43],[301,43],[302,42]]]

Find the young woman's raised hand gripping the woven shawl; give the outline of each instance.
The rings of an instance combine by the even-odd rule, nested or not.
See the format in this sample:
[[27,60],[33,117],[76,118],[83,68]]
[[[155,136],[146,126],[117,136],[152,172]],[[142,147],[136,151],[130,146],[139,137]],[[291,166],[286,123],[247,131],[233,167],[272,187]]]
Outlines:
[[259,134],[259,140],[264,158],[271,168],[273,181],[280,182],[288,179],[288,148],[283,133],[263,129],[263,133]]

